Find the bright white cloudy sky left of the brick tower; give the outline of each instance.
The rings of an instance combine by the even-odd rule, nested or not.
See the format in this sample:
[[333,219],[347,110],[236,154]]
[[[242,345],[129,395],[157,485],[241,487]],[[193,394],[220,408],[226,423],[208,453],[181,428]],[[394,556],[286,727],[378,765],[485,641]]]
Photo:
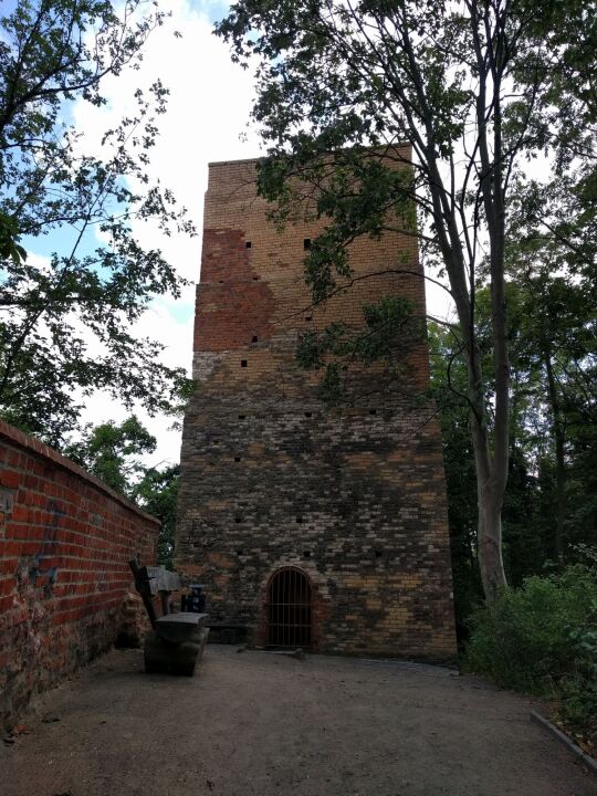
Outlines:
[[[251,158],[261,154],[254,132],[248,128],[254,96],[250,71],[233,64],[227,44],[212,33],[213,22],[226,15],[227,3],[217,0],[168,0],[163,8],[171,18],[154,31],[145,49],[140,70],[128,70],[103,84],[106,106],[97,108],[84,101],[72,107],[72,118],[85,132],[85,150],[101,151],[101,134],[116,124],[133,106],[134,92],[148,87],[157,77],[169,88],[168,111],[159,117],[160,135],[150,155],[148,172],[159,178],[185,206],[197,227],[196,238],[167,238],[146,223],[134,231],[148,247],[163,250],[181,276],[197,283],[201,256],[201,216],[207,189],[207,166],[213,160]],[[175,31],[181,38],[175,36]],[[40,245],[39,239],[35,245]],[[33,256],[48,255],[35,249]],[[442,291],[428,296],[428,306],[439,307]],[[166,346],[168,365],[187,368],[190,375],[195,284],[180,298],[155,300],[138,324],[139,336],[158,337]],[[129,411],[109,396],[86,399],[83,422],[97,425],[124,420]],[[161,465],[179,460],[180,433],[170,431],[171,420],[137,415],[158,440],[146,463]]]

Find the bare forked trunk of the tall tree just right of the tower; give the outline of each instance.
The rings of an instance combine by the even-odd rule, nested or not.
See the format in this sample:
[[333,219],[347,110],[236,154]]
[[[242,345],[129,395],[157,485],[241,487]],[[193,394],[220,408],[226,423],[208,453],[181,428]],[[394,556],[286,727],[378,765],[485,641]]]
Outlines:
[[[490,431],[483,389],[481,355],[474,326],[474,280],[472,276],[467,285],[470,273],[470,259],[462,249],[460,230],[457,224],[455,207],[452,193],[443,187],[436,156],[433,116],[423,103],[421,107],[427,130],[425,147],[426,165],[430,176],[436,232],[439,248],[443,255],[446,270],[450,280],[452,296],[457,306],[459,325],[464,342],[468,360],[469,404],[471,407],[471,434],[474,447],[476,489],[479,503],[479,566],[483,582],[483,590],[488,601],[495,599],[499,591],[507,586],[502,559],[502,506],[507,482],[509,470],[509,432],[510,432],[510,358],[506,334],[506,298],[504,277],[504,176],[502,161],[502,116],[501,116],[501,78],[503,74],[503,52],[491,51],[488,61],[488,49],[483,45],[480,33],[485,21],[479,17],[479,9],[473,3],[472,34],[475,41],[475,54],[479,67],[479,94],[476,103],[478,146],[482,165],[480,192],[485,211],[490,239],[490,274],[491,274],[491,314],[493,338],[493,375],[495,386],[494,428],[490,444]],[[498,34],[495,34],[498,35]],[[499,35],[498,35],[499,38]],[[413,61],[413,60],[412,60]],[[411,69],[416,74],[416,63]],[[491,80],[489,80],[491,74]],[[488,93],[490,96],[488,97]],[[490,127],[486,118],[488,103],[493,105],[493,132],[490,145]],[[427,114],[425,113],[427,109]],[[415,133],[415,130],[413,130]],[[493,158],[491,156],[493,147]]]

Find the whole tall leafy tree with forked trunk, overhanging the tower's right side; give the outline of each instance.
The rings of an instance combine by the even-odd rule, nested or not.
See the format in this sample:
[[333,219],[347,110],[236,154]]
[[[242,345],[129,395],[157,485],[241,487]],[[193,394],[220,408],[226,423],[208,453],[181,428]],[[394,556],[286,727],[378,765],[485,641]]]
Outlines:
[[[262,195],[283,221],[305,198],[296,186],[307,186],[328,219],[305,262],[314,301],[350,279],[346,245],[386,229],[417,234],[427,265],[448,277],[489,598],[505,584],[506,253],[522,219],[511,200],[533,219],[530,238],[557,242],[594,273],[596,10],[593,0],[573,0],[565,13],[556,0],[242,0],[218,25],[237,60],[259,63],[253,117],[270,155]],[[534,160],[545,174],[532,182]]]

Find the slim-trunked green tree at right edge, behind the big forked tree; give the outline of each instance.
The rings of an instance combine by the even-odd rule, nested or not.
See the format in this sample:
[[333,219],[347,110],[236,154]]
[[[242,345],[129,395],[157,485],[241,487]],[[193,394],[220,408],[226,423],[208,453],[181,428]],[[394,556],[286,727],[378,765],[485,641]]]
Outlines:
[[551,460],[551,555],[559,559],[577,501],[568,494],[574,450],[591,444],[597,401],[597,182],[593,164],[580,163],[568,186],[556,175],[544,186],[531,181],[522,188],[512,203],[506,247],[513,363],[523,374],[523,408],[537,418],[543,461]]

